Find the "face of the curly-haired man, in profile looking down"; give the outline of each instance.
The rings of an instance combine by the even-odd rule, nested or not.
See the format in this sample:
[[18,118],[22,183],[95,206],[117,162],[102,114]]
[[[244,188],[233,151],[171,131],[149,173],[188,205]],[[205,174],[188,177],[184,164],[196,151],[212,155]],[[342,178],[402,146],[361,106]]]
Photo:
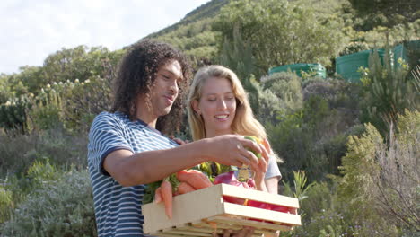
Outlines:
[[183,80],[181,66],[178,61],[171,60],[159,66],[153,86],[150,90],[150,110],[147,110],[144,96],[137,104],[137,118],[145,123],[155,121],[160,116],[167,115],[175,99],[178,97],[179,83]]

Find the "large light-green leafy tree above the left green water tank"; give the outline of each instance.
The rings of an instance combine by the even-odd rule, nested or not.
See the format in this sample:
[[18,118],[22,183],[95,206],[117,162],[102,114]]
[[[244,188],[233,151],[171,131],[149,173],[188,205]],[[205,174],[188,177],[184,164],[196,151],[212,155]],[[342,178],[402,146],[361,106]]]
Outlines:
[[233,41],[233,28],[249,41],[256,75],[294,63],[330,64],[341,47],[341,22],[320,19],[307,1],[232,1],[223,7],[214,29]]

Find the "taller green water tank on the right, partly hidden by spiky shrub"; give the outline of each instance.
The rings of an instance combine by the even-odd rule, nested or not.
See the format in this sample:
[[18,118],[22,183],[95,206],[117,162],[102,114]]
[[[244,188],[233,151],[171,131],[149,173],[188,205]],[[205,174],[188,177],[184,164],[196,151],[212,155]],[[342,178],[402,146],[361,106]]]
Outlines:
[[[369,55],[373,50],[364,50],[351,55],[345,55],[336,58],[336,73],[346,78],[346,80],[356,83],[362,77],[361,73],[357,72],[361,66],[369,67]],[[385,50],[378,49],[378,54],[382,59]]]

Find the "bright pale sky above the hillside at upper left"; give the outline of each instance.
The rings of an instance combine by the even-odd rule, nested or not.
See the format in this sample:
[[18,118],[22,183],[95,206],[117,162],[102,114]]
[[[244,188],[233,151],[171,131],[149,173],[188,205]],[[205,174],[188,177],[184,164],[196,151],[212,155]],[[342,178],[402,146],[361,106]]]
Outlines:
[[0,73],[42,66],[62,48],[116,50],[179,22],[210,0],[2,0]]

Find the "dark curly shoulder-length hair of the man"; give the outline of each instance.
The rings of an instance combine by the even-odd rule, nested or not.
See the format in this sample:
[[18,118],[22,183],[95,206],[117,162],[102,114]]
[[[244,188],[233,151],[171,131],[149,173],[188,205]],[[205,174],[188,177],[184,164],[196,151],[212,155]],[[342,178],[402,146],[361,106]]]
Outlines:
[[[118,67],[111,112],[120,111],[127,114],[131,120],[136,120],[138,95],[149,94],[159,66],[165,65],[171,60],[179,62],[184,78],[179,84],[179,95],[172,105],[171,112],[158,118],[156,129],[165,134],[179,131],[186,99],[185,94],[192,76],[191,66],[187,57],[166,43],[141,40],[128,49]],[[146,96],[146,98],[149,97]]]

